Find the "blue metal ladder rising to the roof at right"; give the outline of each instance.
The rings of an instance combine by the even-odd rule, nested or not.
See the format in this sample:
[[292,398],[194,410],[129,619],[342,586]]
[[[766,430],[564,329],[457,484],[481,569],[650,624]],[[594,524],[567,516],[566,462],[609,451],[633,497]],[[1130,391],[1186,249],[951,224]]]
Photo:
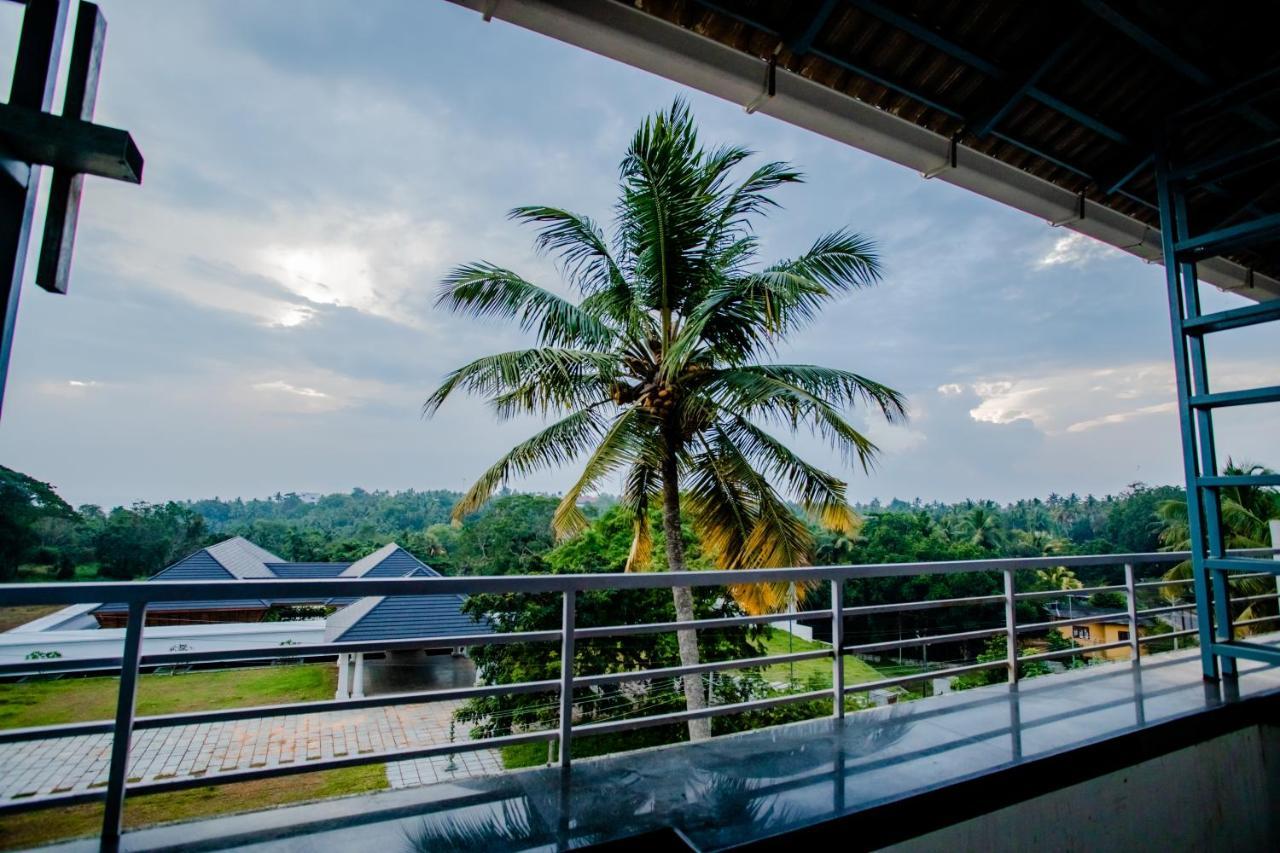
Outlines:
[[1239,658],[1280,663],[1280,649],[1236,639],[1231,622],[1229,583],[1234,573],[1280,574],[1280,562],[1226,555],[1220,501],[1221,489],[1228,487],[1280,485],[1280,474],[1220,474],[1213,443],[1213,410],[1277,402],[1280,386],[1217,393],[1210,391],[1204,338],[1228,329],[1280,320],[1280,298],[1202,314],[1196,264],[1206,257],[1280,237],[1280,215],[1261,216],[1229,228],[1192,234],[1187,192],[1193,181],[1198,183],[1202,177],[1202,169],[1175,170],[1165,156],[1156,158],[1201,662],[1204,678],[1216,680],[1220,675],[1234,678]]

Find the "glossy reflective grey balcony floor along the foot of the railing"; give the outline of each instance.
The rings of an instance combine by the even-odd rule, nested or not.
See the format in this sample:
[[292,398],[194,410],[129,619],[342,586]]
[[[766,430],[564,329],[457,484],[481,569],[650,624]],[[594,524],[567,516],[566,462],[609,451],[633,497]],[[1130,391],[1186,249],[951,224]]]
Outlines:
[[525,770],[142,830],[123,849],[556,849],[649,831],[667,833],[649,847],[676,849],[675,827],[694,849],[713,850],[851,815],[858,847],[879,847],[1198,743],[1263,708],[1277,719],[1280,669],[1242,663],[1240,672],[1219,688],[1201,679],[1196,652],[1175,652],[842,724],[581,760],[568,774]]

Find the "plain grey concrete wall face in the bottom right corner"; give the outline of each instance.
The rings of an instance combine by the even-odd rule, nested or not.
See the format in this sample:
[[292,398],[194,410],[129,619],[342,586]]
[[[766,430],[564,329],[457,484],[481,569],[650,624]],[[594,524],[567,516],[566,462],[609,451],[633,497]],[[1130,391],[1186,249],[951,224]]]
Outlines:
[[1280,850],[1280,726],[1242,729],[886,849]]

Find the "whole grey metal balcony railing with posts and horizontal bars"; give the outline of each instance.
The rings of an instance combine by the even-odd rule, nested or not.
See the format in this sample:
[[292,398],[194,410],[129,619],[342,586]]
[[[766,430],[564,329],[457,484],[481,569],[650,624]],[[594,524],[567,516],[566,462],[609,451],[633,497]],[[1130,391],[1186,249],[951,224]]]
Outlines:
[[[1239,555],[1272,555],[1274,549],[1251,549],[1234,552]],[[22,663],[0,663],[0,676],[19,676],[68,671],[119,671],[119,693],[114,721],[76,722],[67,725],[38,726],[27,729],[0,730],[0,744],[31,740],[35,738],[67,738],[86,734],[114,733],[111,756],[105,788],[83,792],[50,794],[38,798],[22,798],[0,803],[0,815],[50,806],[70,806],[95,800],[105,802],[101,843],[104,849],[114,849],[120,838],[120,820],[125,794],[150,794],[160,792],[197,788],[210,784],[228,784],[283,776],[317,770],[333,770],[357,765],[379,763],[449,756],[454,753],[494,749],[515,744],[558,742],[559,763],[570,765],[570,745],[575,735],[598,735],[614,731],[634,730],[646,726],[660,726],[689,720],[740,713],[801,702],[829,701],[832,715],[845,715],[845,698],[854,693],[867,693],[884,688],[900,686],[931,679],[947,679],[987,670],[1002,669],[1009,681],[1019,678],[1019,665],[1030,661],[1046,661],[1060,657],[1074,657],[1126,647],[1137,658],[1142,646],[1156,640],[1188,637],[1196,633],[1180,630],[1164,634],[1140,635],[1139,625],[1144,619],[1162,613],[1193,610],[1194,603],[1176,603],[1161,607],[1138,608],[1138,590],[1151,587],[1176,587],[1192,583],[1188,580],[1146,580],[1138,581],[1135,566],[1152,566],[1179,562],[1188,557],[1183,552],[1130,553],[1130,555],[1091,555],[1075,557],[1025,557],[1006,560],[970,560],[951,562],[910,562],[858,566],[820,566],[804,569],[755,569],[741,571],[695,571],[695,573],[640,573],[640,574],[590,574],[590,575],[520,575],[490,578],[413,578],[413,579],[325,579],[325,580],[238,580],[234,581],[237,598],[330,598],[365,596],[433,596],[470,593],[558,593],[562,596],[561,626],[553,630],[513,631],[465,637],[419,637],[398,640],[332,642],[319,644],[298,644],[287,648],[247,648],[211,652],[169,652],[159,654],[142,653],[147,606],[154,602],[193,602],[225,599],[227,581],[150,581],[150,583],[83,583],[83,584],[9,584],[0,585],[0,607],[17,605],[81,605],[92,602],[123,602],[128,605],[128,622],[124,643],[119,657],[91,660],[37,660]],[[1027,590],[1018,592],[1016,573],[1036,569],[1089,567],[1124,565],[1124,584],[1092,587],[1068,590]],[[1256,564],[1254,564],[1256,566]],[[845,607],[845,581],[869,578],[901,578],[914,575],[987,573],[1002,575],[1001,593],[915,601],[891,605],[867,605]],[[1280,573],[1280,564],[1277,564]],[[1271,573],[1251,573],[1238,575],[1238,579],[1271,576]],[[678,630],[709,630],[744,625],[759,625],[777,621],[778,613],[764,616],[732,616],[701,619],[690,622],[645,622],[596,628],[577,628],[577,593],[600,589],[662,589],[677,587],[730,587],[758,583],[827,583],[831,588],[831,607],[826,610],[803,611],[797,616],[805,620],[829,619],[831,648],[773,654],[764,657],[736,658],[728,661],[709,661],[696,666],[671,666],[627,672],[605,672],[599,675],[576,675],[573,671],[575,644],[577,640],[590,640],[607,637],[637,634],[658,634]],[[1050,621],[1018,624],[1019,602],[1044,598],[1061,598],[1071,594],[1121,593],[1126,608],[1111,617],[1123,619],[1129,629],[1128,639],[1111,643],[1080,646],[1069,649],[1050,651],[1020,656],[1019,637],[1028,633],[1044,633],[1059,628],[1098,621],[1101,616],[1080,616]],[[1277,593],[1254,594],[1238,601],[1280,599]],[[1004,624],[977,630],[950,634],[910,637],[897,640],[877,640],[870,643],[846,644],[846,620],[886,613],[902,613],[940,607],[980,607],[1002,605]],[[1235,622],[1236,625],[1280,621],[1280,616],[1267,616]],[[845,654],[900,651],[905,648],[927,647],[940,643],[964,643],[992,637],[1006,638],[1006,654],[1001,660],[965,662],[941,670],[927,670],[909,675],[845,684]],[[559,678],[517,684],[497,684],[448,690],[424,690],[384,695],[343,698],[321,702],[302,702],[289,704],[259,706],[250,708],[229,708],[219,711],[197,711],[161,716],[136,717],[138,675],[143,669],[177,663],[229,663],[238,661],[262,661],[280,657],[306,658],[332,656],[349,652],[385,652],[396,649],[421,649],[433,647],[475,647],[504,643],[558,643]],[[657,679],[676,679],[690,675],[712,674],[726,670],[750,670],[786,662],[831,658],[832,686],[829,689],[768,695],[764,698],[709,706],[699,710],[686,710],[622,720],[573,724],[573,690],[628,681],[653,681]],[[230,772],[209,774],[198,777],[164,779],[127,784],[129,747],[133,731],[160,729],[177,725],[229,722],[236,720],[276,717],[298,713],[316,713],[356,708],[375,708],[410,702],[439,702],[448,699],[475,699],[493,695],[520,693],[558,693],[558,725],[554,729],[538,731],[518,731],[508,735],[483,738],[462,743],[435,744],[411,749],[393,749],[356,756],[330,757],[289,765],[251,767]]]

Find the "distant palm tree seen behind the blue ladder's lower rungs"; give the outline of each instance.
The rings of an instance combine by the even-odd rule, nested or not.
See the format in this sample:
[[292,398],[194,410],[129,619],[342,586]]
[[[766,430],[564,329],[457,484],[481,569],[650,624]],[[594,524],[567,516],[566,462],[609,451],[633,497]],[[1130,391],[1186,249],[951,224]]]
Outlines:
[[[1253,462],[1236,465],[1230,459],[1222,474],[1228,476],[1275,474],[1268,467]],[[1271,533],[1268,521],[1280,517],[1280,492],[1262,485],[1233,485],[1219,491],[1222,506],[1222,538],[1228,548],[1270,548]],[[1189,551],[1192,547],[1190,521],[1187,515],[1187,501],[1162,501],[1156,506],[1160,519],[1160,542],[1165,551]],[[1185,580],[1192,576],[1192,564],[1188,560],[1165,573],[1165,580]],[[1181,585],[1165,587],[1166,598],[1178,599],[1184,592]],[[1276,592],[1272,578],[1243,578],[1231,585],[1239,596],[1263,596]],[[1271,607],[1245,607],[1240,619],[1253,619],[1263,615]]]

